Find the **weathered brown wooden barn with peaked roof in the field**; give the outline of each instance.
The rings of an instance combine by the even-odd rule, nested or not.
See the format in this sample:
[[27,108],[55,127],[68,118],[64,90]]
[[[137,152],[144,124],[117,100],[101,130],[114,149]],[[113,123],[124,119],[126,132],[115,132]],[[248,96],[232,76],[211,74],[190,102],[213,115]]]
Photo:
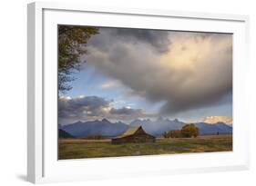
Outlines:
[[121,136],[112,139],[113,144],[128,142],[156,142],[156,137],[145,132],[141,126],[130,127]]

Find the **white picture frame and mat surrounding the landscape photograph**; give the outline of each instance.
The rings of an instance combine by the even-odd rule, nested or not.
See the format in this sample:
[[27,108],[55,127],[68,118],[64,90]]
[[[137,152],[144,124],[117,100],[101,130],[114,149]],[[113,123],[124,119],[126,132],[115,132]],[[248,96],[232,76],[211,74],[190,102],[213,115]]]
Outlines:
[[[90,17],[86,19],[85,17]],[[115,20],[115,21],[113,21]],[[56,25],[223,32],[233,34],[233,152],[58,161],[56,122]],[[32,3],[27,12],[27,180],[83,181],[129,176],[249,169],[248,26],[246,15],[79,4]],[[49,63],[50,62],[50,63]],[[242,126],[241,126],[242,122]],[[134,169],[132,164],[140,166]],[[171,165],[171,166],[164,166]],[[104,169],[103,169],[104,168]]]

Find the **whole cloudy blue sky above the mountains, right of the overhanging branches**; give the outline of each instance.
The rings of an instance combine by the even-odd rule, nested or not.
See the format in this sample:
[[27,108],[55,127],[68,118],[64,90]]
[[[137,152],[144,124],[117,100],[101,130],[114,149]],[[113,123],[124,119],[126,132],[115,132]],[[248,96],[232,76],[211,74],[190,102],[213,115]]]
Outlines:
[[232,117],[232,34],[99,28],[80,58],[60,123]]

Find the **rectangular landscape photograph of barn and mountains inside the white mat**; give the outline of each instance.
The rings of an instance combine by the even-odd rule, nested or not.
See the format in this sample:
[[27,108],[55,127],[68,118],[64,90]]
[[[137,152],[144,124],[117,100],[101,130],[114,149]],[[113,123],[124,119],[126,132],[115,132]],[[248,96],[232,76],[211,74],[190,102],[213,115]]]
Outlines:
[[231,152],[232,34],[57,27],[58,160]]

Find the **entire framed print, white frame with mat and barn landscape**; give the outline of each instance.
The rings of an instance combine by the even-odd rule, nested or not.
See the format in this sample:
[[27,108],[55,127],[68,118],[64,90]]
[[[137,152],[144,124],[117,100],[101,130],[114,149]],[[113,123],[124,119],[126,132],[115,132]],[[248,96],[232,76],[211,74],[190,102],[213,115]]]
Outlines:
[[28,5],[28,181],[248,169],[247,27]]

